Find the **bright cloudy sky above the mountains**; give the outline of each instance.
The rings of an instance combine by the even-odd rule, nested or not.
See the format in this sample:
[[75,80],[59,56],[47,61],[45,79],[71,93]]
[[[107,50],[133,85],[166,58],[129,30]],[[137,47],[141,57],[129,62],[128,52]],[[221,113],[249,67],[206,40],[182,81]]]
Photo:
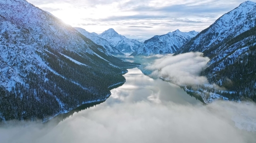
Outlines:
[[179,29],[202,31],[245,0],[27,0],[67,24],[101,33],[114,28],[129,38]]

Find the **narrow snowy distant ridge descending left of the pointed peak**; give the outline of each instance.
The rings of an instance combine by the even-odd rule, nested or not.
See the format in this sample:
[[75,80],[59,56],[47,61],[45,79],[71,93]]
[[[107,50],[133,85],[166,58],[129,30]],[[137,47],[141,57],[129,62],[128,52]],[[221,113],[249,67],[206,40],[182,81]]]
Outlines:
[[102,47],[104,47],[108,53],[113,54],[113,55],[124,55],[119,50],[115,49],[115,47],[112,44],[110,44],[107,40],[99,37],[98,34],[90,33],[90,32],[88,32],[82,28],[79,28],[79,27],[74,27],[74,29],[79,31],[83,36],[92,40],[95,44],[98,44],[98,45],[101,45]]

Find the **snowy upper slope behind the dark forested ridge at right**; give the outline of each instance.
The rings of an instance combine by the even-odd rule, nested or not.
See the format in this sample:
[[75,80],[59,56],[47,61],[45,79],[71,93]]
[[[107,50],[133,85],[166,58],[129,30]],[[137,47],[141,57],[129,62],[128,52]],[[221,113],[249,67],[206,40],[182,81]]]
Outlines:
[[224,14],[209,28],[200,32],[177,53],[209,50],[225,39],[236,37],[256,25],[256,3],[245,1],[234,10]]

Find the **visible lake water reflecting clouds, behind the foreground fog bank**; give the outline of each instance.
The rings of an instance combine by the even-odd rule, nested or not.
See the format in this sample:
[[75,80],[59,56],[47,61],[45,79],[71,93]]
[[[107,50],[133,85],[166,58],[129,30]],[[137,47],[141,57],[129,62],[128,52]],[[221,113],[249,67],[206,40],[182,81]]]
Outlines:
[[155,103],[175,102],[176,104],[202,104],[199,100],[189,96],[180,87],[162,81],[152,79],[144,75],[140,69],[128,69],[124,75],[126,83],[111,90],[112,95],[104,104],[115,104],[122,102],[138,102],[147,100]]

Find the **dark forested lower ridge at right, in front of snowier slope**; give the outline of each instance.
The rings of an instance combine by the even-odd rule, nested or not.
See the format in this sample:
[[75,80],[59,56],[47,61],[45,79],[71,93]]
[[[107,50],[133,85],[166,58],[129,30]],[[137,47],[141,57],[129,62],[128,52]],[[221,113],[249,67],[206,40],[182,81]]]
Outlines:
[[204,55],[211,57],[211,61],[202,75],[210,83],[234,91],[232,94],[224,94],[231,100],[250,98],[256,101],[255,33],[256,27],[204,51]]

